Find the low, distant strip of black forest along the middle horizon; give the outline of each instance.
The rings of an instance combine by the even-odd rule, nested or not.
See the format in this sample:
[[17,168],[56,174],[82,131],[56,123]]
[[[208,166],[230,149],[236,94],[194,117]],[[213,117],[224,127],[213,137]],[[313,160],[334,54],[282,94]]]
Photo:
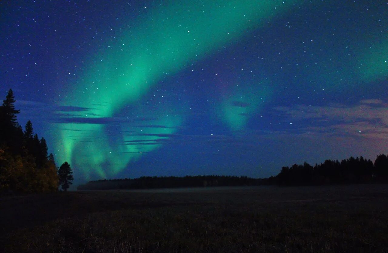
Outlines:
[[243,186],[261,185],[263,179],[247,176],[142,176],[134,179],[113,179],[90,181],[78,186],[78,190],[111,190],[111,189],[146,189],[146,188],[178,188],[178,187],[211,187],[211,186]]

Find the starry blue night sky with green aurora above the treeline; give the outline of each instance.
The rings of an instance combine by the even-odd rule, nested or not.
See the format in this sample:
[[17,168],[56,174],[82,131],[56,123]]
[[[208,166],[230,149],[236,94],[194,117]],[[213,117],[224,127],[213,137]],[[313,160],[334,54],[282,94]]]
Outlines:
[[0,39],[76,183],[388,152],[386,0],[1,1]]

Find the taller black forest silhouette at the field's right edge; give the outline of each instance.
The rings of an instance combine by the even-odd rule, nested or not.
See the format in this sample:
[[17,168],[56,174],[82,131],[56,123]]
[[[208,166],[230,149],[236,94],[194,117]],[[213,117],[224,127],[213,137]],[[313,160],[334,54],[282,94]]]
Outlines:
[[378,155],[374,163],[364,157],[350,157],[340,161],[326,160],[311,166],[294,164],[268,179],[279,185],[327,185],[344,183],[387,183],[388,157]]

